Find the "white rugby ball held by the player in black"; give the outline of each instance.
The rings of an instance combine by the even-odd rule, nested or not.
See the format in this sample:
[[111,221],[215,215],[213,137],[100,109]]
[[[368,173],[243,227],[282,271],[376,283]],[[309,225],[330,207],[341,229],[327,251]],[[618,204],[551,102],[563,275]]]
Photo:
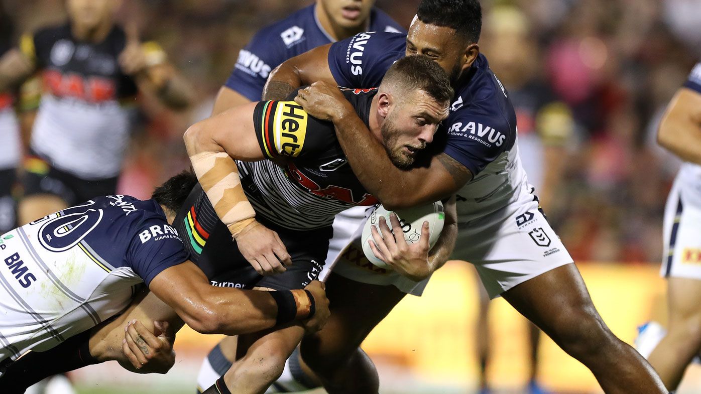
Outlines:
[[[386,210],[382,205],[379,205],[372,214],[367,218],[365,226],[362,228],[362,251],[365,253],[365,257],[374,265],[381,268],[390,268],[384,261],[377,258],[370,248],[372,240],[371,226],[377,226],[377,231],[382,234],[379,228],[380,217],[384,217],[387,221],[387,226],[392,229],[392,222],[390,221],[390,213],[393,211]],[[443,203],[437,201],[435,203],[430,203],[426,205],[421,205],[414,208],[408,208],[405,210],[395,211],[397,218],[402,224],[402,231],[404,231],[404,239],[407,243],[418,243],[421,238],[421,226],[423,222],[428,221],[428,231],[430,236],[428,237],[428,245],[433,247],[443,230],[443,222],[445,219],[445,213],[443,212]]]

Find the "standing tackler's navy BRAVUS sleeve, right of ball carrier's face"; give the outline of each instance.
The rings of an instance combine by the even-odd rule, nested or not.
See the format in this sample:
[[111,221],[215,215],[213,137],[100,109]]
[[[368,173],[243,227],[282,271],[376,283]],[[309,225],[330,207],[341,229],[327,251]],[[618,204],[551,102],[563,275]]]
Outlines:
[[493,116],[464,111],[449,121],[444,153],[465,165],[472,176],[484,170],[515,140],[510,125]]

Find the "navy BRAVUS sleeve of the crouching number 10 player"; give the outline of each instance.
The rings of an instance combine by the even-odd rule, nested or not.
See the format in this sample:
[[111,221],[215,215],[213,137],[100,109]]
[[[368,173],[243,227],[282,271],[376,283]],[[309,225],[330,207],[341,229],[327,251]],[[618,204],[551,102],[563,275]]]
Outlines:
[[126,256],[126,263],[148,286],[158,273],[187,259],[182,239],[163,219],[151,218],[140,225]]

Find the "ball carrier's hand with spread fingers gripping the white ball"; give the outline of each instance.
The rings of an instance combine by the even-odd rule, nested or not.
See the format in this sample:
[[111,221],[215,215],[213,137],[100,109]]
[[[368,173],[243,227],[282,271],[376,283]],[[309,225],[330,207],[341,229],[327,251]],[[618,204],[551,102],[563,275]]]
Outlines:
[[375,257],[386,262],[395,271],[416,282],[428,278],[431,274],[428,262],[428,250],[430,250],[428,238],[428,222],[421,226],[421,238],[418,243],[409,244],[404,239],[402,224],[397,215],[390,214],[392,229],[389,228],[384,217],[380,217],[378,231],[376,226],[371,226],[372,239],[370,249]]

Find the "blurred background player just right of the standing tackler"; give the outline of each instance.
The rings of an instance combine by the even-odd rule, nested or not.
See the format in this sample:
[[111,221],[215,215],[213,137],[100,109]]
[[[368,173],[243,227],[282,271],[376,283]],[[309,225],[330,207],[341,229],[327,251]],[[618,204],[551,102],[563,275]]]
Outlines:
[[[519,156],[529,183],[538,191],[540,205],[546,212],[557,207],[553,195],[562,184],[567,158],[566,142],[571,142],[574,122],[566,104],[557,101],[554,93],[538,76],[535,60],[538,46],[531,36],[529,21],[518,8],[498,6],[486,15],[487,29],[482,39],[482,52],[490,67],[499,76],[516,111]],[[477,318],[477,359],[480,367],[481,393],[491,393],[486,379],[489,368],[488,312],[489,296],[479,286]],[[532,322],[529,329],[530,374],[528,392],[545,393],[537,381],[540,330]]]

